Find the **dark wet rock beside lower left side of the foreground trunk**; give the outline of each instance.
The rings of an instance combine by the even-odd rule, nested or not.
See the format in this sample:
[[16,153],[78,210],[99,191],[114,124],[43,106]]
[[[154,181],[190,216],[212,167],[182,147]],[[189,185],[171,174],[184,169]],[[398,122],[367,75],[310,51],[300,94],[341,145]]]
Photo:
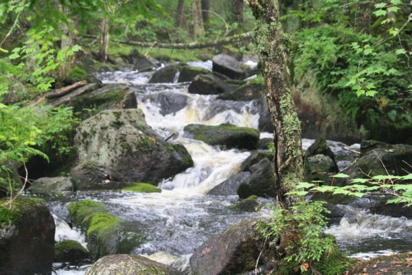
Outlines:
[[240,199],[246,199],[251,195],[258,197],[275,197],[276,182],[273,163],[267,158],[249,167],[251,176],[245,179],[238,188]]

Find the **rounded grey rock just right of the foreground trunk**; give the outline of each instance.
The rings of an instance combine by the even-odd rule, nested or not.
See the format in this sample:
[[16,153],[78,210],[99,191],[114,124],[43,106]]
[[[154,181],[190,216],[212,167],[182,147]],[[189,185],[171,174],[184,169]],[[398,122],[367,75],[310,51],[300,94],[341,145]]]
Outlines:
[[314,155],[307,157],[305,162],[306,181],[323,181],[330,184],[330,176],[339,173],[336,163],[328,155]]

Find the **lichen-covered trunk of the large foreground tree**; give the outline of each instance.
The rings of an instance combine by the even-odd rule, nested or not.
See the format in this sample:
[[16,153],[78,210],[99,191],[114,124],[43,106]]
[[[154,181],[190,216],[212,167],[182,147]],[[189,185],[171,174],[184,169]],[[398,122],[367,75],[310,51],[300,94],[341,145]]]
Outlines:
[[247,0],[256,19],[255,43],[266,85],[271,120],[275,126],[277,201],[288,208],[299,197],[286,193],[304,177],[301,124],[297,118],[287,67],[288,39],[282,31],[277,0]]

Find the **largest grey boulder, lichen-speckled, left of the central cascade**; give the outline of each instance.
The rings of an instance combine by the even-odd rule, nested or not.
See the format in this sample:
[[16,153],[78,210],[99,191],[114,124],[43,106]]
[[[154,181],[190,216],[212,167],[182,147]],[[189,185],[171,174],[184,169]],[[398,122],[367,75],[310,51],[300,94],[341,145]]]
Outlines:
[[110,168],[118,181],[157,182],[193,166],[186,148],[164,142],[138,109],[106,110],[84,120],[75,144],[79,164]]

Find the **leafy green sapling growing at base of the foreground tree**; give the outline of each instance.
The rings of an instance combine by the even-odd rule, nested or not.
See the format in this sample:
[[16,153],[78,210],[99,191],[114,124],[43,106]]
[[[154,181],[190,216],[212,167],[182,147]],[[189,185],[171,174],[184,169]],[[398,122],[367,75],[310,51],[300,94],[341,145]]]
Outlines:
[[301,201],[290,209],[274,210],[271,221],[258,223],[258,232],[271,245],[282,243],[285,261],[312,266],[334,248],[334,241],[323,233],[327,228],[325,212],[328,210],[321,201]]

